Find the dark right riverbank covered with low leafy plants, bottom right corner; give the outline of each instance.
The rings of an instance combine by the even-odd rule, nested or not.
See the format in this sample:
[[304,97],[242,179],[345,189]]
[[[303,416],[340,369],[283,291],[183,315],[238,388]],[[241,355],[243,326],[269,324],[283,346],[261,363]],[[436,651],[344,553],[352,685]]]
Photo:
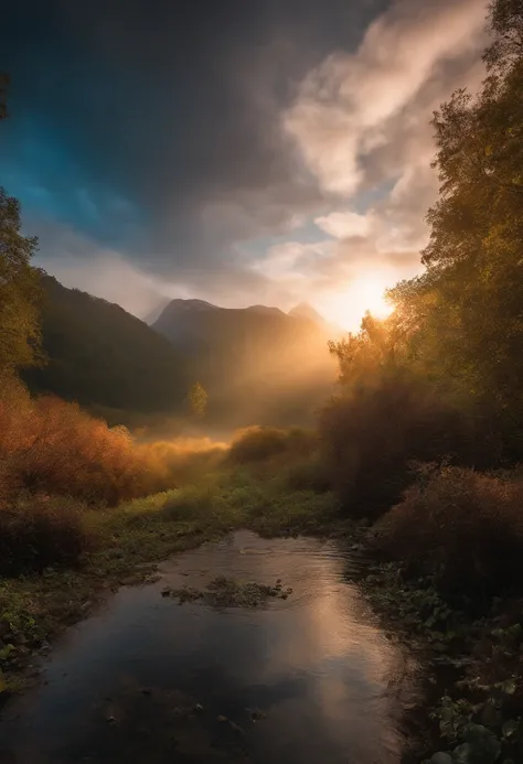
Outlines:
[[367,558],[359,583],[384,626],[419,656],[424,706],[406,709],[405,762],[523,761],[523,627],[520,598],[458,606],[434,578]]

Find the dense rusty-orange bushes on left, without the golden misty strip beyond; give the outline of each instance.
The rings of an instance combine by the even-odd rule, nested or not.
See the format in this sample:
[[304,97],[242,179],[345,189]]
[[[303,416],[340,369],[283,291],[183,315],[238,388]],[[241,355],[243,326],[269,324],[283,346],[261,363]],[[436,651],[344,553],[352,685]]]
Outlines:
[[56,398],[31,399],[18,383],[4,381],[0,399],[2,493],[61,494],[116,504],[138,495],[147,464],[122,428],[84,413]]

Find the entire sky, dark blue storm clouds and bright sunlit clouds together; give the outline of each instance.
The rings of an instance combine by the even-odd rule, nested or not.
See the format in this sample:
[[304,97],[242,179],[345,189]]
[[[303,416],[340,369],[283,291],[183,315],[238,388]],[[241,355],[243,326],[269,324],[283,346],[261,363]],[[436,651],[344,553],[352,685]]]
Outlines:
[[484,0],[8,0],[0,184],[38,265],[148,316],[307,301],[346,329],[420,272],[433,111]]

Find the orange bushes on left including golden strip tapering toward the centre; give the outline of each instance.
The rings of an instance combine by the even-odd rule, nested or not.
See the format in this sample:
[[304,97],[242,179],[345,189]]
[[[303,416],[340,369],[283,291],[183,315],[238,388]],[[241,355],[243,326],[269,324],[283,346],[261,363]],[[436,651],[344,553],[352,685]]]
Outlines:
[[223,452],[205,439],[140,444],[76,403],[0,380],[0,504],[30,492],[113,506],[192,480]]

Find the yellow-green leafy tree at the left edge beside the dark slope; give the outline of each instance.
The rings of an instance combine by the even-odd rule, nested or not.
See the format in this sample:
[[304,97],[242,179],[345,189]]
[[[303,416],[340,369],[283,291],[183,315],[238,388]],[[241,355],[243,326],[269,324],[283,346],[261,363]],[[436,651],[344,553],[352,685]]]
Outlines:
[[38,359],[40,289],[31,267],[36,239],[20,228],[20,203],[0,187],[0,373]]

